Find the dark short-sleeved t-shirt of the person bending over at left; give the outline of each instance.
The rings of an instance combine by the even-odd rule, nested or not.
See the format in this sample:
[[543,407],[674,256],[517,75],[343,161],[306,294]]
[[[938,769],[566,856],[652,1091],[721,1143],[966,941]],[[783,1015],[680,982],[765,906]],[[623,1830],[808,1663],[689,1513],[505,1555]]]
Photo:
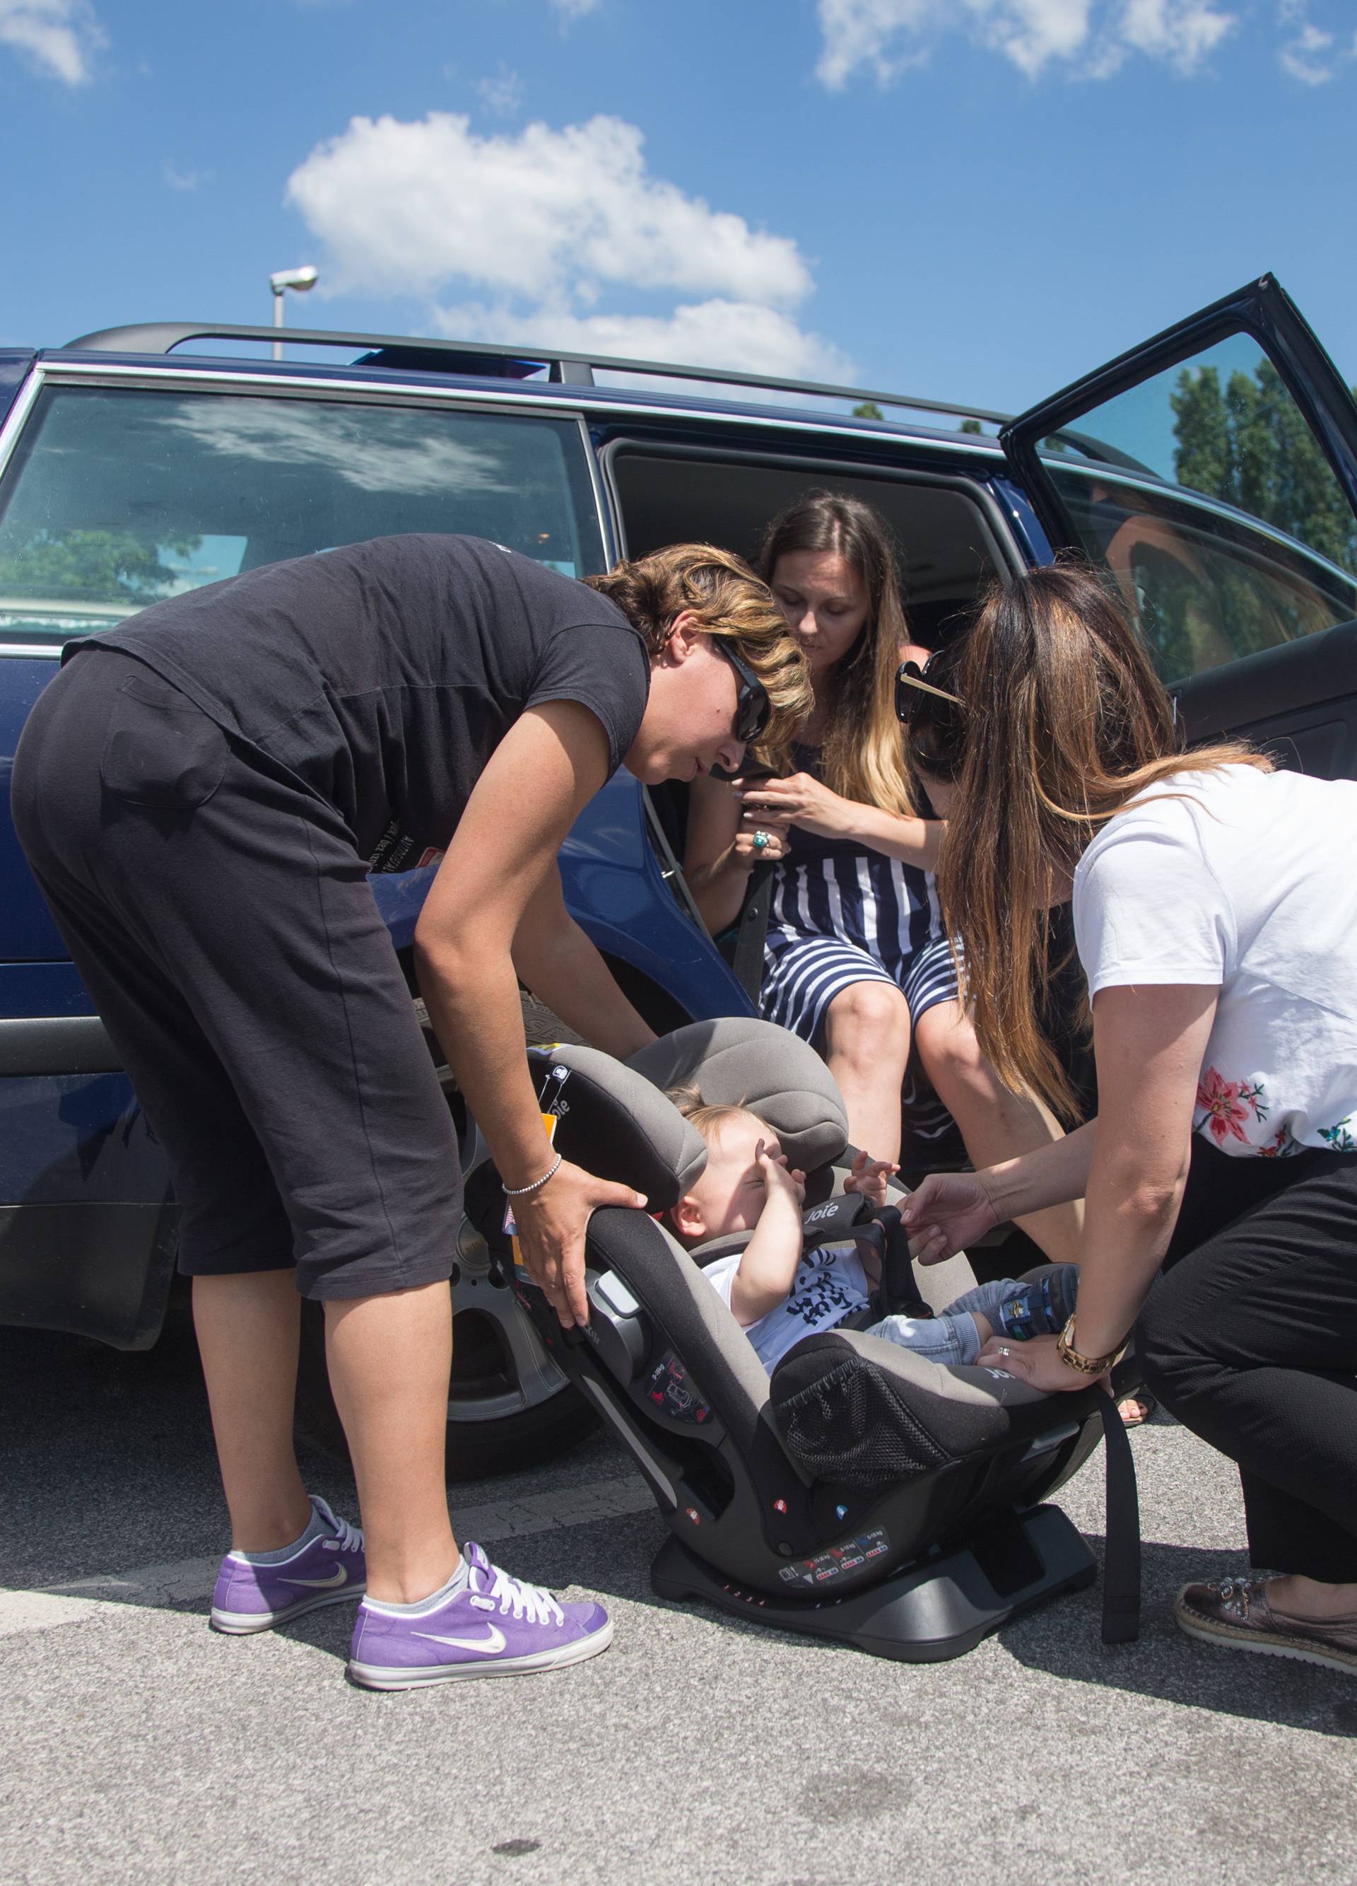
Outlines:
[[541,702],[582,702],[616,769],[650,690],[596,590],[482,538],[373,538],[155,604],[92,639],[134,654],[334,805],[373,869],[441,851]]

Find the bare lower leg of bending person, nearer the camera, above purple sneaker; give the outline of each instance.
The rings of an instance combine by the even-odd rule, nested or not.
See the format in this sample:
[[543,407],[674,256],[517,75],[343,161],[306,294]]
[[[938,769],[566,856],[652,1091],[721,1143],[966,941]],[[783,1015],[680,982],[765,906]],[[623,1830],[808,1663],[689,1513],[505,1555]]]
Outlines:
[[326,1303],[326,1360],[358,1481],[368,1594],[415,1603],[460,1562],[443,1473],[449,1286]]

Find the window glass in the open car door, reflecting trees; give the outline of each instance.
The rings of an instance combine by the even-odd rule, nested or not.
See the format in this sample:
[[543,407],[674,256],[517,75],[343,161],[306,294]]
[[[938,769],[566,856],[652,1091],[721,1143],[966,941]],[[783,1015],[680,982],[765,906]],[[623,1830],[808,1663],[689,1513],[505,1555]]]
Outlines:
[[1165,681],[1357,615],[1351,507],[1248,334],[1091,407],[1038,451]]

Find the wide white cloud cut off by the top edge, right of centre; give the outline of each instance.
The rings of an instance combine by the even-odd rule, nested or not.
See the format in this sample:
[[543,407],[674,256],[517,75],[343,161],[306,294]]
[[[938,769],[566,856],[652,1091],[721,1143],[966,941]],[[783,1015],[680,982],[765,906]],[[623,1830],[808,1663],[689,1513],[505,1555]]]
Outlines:
[[1193,72],[1236,25],[1216,0],[818,0],[818,77],[839,91],[861,66],[886,85],[950,32],[1029,79],[1048,66],[1106,77],[1131,55]]

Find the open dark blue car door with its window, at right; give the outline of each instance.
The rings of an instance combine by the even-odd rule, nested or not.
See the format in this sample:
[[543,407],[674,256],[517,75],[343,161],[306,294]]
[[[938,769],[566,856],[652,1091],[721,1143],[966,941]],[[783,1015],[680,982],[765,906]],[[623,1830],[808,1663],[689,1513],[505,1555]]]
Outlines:
[[1116,577],[1189,741],[1357,777],[1357,404],[1270,275],[1001,443],[1052,545]]

